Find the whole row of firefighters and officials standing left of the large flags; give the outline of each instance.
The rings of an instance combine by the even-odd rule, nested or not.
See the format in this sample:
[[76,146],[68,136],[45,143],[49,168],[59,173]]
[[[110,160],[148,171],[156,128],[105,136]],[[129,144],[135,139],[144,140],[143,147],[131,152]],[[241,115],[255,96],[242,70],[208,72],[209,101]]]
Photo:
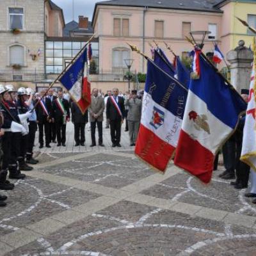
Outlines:
[[[96,126],[99,134],[98,145],[104,147],[102,138],[103,113],[106,109],[106,127],[110,127],[112,147],[121,147],[121,125],[125,118],[129,130],[130,145],[134,146],[138,136],[141,117],[141,99],[136,90],[125,95],[119,94],[118,89],[102,95],[95,88],[88,111],[81,112],[75,102],[65,99],[63,90],[58,93],[50,89],[35,93],[31,88],[20,87],[18,90],[12,84],[0,84],[0,190],[12,190],[15,185],[7,180],[24,179],[21,171],[33,170],[28,164],[37,164],[33,157],[35,134],[38,130],[39,148],[51,148],[51,143],[57,147],[65,147],[66,124],[74,124],[75,146],[84,146],[85,125],[90,120],[90,147],[96,145]],[[125,111],[126,109],[126,111]],[[71,110],[71,111],[70,111]],[[0,195],[0,207],[6,205],[7,196]]]

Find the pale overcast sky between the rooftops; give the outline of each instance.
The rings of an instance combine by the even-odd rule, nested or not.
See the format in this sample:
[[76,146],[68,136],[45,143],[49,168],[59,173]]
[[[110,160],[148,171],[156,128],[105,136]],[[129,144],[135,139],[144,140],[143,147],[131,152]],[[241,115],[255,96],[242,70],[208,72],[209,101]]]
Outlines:
[[[95,3],[103,0],[74,0],[74,20],[78,21],[78,16],[83,15],[92,20]],[[72,21],[72,0],[52,0],[62,8],[66,24]]]

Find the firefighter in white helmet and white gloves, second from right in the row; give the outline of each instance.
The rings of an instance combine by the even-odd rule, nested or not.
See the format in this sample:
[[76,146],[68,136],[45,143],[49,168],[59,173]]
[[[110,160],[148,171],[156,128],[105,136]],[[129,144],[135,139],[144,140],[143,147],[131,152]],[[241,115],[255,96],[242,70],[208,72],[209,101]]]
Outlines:
[[33,167],[28,166],[26,163],[26,152],[28,147],[28,140],[29,140],[29,127],[28,127],[28,118],[31,116],[31,113],[29,112],[28,105],[26,104],[27,100],[27,92],[26,88],[20,87],[17,91],[18,99],[16,101],[16,105],[18,108],[20,123],[23,125],[23,127],[26,129],[27,134],[22,134],[20,136],[20,151],[19,151],[19,168],[20,170],[24,171],[31,171],[33,170]]

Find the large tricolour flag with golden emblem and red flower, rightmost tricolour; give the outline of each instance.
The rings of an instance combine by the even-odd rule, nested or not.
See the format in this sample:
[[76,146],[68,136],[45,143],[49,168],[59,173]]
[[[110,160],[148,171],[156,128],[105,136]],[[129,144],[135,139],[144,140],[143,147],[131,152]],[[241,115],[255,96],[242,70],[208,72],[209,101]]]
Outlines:
[[199,79],[191,79],[174,163],[210,182],[214,156],[236,129],[246,102],[201,56]]

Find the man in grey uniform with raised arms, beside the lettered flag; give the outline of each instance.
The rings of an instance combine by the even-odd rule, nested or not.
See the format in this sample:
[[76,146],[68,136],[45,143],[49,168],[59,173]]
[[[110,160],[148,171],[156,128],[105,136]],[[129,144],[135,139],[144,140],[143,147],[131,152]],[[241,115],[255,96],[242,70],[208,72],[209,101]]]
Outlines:
[[125,106],[129,107],[127,121],[129,127],[130,146],[135,146],[141,118],[141,100],[137,97],[137,91],[132,90],[129,99],[125,100]]

